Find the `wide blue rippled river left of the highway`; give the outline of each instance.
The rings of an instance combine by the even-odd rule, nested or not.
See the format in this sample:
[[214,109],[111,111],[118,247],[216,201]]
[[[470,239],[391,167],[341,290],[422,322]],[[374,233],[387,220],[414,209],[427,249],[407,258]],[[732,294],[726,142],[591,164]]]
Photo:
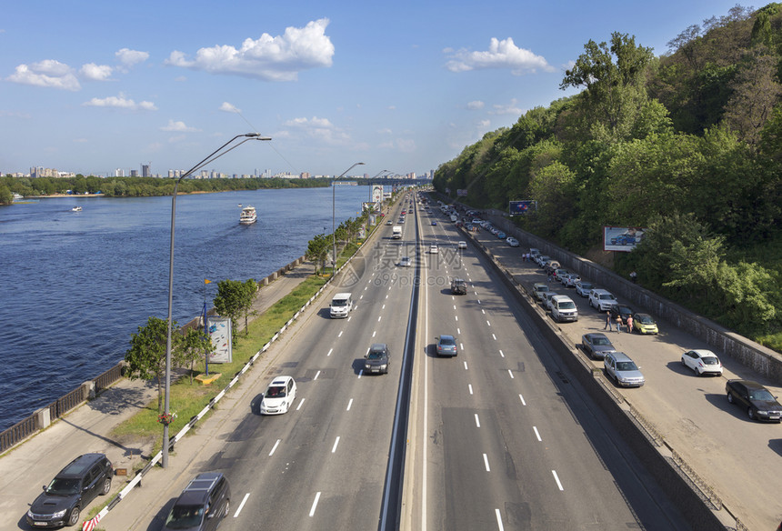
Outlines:
[[[368,195],[337,187],[336,225]],[[238,224],[239,204],[256,207],[255,225]],[[304,255],[331,226],[331,188],[179,195],[174,319],[198,316],[205,294],[211,307],[220,280],[260,279]],[[0,206],[0,431],[122,360],[149,316],[166,318],[170,229],[170,195]]]

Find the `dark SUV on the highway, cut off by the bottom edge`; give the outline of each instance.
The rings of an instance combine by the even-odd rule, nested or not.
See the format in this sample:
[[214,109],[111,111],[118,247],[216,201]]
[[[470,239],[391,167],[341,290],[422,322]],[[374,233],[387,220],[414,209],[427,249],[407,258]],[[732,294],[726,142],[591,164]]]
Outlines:
[[176,498],[164,530],[214,531],[228,516],[231,488],[226,476],[204,472],[195,476]]

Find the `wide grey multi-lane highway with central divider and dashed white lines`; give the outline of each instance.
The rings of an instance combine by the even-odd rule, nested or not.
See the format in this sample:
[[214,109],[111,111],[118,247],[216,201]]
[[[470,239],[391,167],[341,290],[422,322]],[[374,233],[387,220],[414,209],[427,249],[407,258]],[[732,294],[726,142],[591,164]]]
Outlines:
[[[159,528],[189,477],[210,470],[231,482],[227,530],[687,529],[483,255],[407,199],[394,219],[411,207],[403,238],[380,227],[335,287],[352,292],[350,316],[330,319],[328,295],[308,311],[134,528]],[[396,266],[404,255],[413,266]],[[441,334],[458,356],[436,357]],[[387,375],[363,373],[372,343],[390,347]],[[296,379],[296,402],[260,416],[278,375]]]

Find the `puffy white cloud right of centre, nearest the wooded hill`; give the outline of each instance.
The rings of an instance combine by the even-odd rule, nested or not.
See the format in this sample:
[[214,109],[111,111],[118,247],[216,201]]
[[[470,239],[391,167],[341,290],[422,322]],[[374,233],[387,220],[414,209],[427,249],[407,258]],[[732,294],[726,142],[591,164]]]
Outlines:
[[513,75],[522,75],[527,72],[535,73],[538,68],[546,72],[554,71],[544,57],[519,48],[513,43],[511,37],[502,41],[492,37],[486,52],[470,52],[464,48],[455,52],[446,48],[445,53],[451,57],[451,60],[446,63],[446,68],[451,72],[507,68]]

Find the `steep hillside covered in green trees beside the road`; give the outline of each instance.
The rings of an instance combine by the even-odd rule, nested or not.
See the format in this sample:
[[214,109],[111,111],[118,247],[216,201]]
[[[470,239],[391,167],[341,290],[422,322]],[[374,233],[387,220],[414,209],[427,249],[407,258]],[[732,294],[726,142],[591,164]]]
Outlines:
[[607,260],[617,272],[778,349],[782,4],[690,25],[666,55],[609,37],[566,71],[579,94],[467,146],[436,189],[503,210],[534,199],[518,225],[598,259],[604,225],[647,227]]

